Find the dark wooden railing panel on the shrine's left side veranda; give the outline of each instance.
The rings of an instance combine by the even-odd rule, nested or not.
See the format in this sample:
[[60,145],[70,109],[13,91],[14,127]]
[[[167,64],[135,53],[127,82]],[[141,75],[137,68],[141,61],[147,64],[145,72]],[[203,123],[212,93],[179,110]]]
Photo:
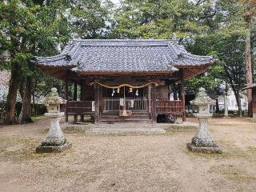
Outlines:
[[92,101],[68,101],[66,102],[66,114],[94,114]]

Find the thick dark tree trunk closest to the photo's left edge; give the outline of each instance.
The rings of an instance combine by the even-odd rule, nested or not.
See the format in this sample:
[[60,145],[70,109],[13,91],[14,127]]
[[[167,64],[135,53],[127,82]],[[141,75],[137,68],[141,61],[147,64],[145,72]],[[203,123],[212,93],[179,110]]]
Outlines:
[[10,86],[6,100],[6,119],[5,124],[10,125],[16,123],[15,120],[15,105],[17,92],[19,88],[19,79],[21,75],[20,66],[17,62],[11,64]]

